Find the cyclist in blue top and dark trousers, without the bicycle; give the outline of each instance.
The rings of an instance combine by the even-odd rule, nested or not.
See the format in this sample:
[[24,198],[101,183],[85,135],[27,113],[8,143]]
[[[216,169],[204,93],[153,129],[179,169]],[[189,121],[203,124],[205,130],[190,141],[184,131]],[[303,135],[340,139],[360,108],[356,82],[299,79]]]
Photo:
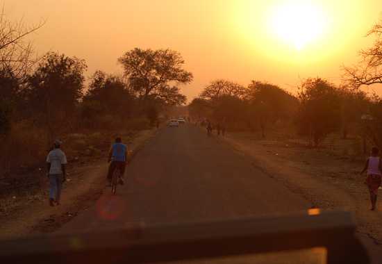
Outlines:
[[119,170],[120,176],[119,176],[119,184],[124,185],[124,172],[126,168],[126,161],[127,161],[127,147],[122,143],[121,138],[116,138],[115,143],[111,146],[110,152],[109,152],[109,158],[108,162],[110,163],[109,170],[108,170],[108,183],[111,185],[111,179],[113,176],[113,173],[116,169]]

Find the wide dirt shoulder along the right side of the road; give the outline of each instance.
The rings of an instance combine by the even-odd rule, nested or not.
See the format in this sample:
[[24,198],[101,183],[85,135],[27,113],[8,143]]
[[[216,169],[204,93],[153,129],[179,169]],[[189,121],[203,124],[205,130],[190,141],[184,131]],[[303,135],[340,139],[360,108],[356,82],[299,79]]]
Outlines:
[[352,160],[293,140],[259,140],[251,133],[229,133],[219,140],[249,156],[255,167],[305,197],[312,207],[354,212],[359,235],[371,238],[374,250],[382,251],[382,201],[377,211],[369,210],[365,176],[359,175],[362,158]]

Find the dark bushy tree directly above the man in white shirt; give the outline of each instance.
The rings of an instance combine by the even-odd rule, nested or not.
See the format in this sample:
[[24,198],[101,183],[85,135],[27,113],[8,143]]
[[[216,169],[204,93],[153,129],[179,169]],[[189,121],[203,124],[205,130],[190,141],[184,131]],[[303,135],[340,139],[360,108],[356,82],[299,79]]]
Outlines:
[[43,117],[49,136],[70,124],[82,97],[84,60],[47,53],[28,77],[28,104],[34,117]]

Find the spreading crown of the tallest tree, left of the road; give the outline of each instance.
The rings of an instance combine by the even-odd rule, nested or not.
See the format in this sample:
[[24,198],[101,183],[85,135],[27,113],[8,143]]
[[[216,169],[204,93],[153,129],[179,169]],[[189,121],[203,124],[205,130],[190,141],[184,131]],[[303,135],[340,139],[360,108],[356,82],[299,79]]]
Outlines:
[[190,83],[192,73],[183,69],[181,54],[171,49],[128,51],[118,59],[131,88],[141,99],[163,100],[166,104],[184,104],[185,96],[178,85]]

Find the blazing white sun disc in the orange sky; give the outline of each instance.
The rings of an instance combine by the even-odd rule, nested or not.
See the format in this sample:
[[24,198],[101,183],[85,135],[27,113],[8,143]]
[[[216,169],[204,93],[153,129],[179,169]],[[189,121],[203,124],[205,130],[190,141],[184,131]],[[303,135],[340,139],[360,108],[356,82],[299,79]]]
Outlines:
[[283,42],[301,50],[324,32],[326,19],[322,9],[311,3],[276,6],[271,15],[272,32]]

